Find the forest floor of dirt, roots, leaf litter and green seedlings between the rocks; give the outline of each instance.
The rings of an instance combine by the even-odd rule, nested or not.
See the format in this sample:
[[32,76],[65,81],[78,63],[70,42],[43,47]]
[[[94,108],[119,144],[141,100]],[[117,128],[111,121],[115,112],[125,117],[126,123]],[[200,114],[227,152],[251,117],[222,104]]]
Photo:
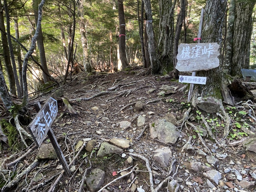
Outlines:
[[[88,152],[84,149],[81,151],[71,165],[75,165],[75,168],[78,171],[75,173],[72,172],[72,177],[69,177],[64,173],[53,191],[78,192],[84,171],[87,169],[87,173],[89,174],[90,171],[95,168],[99,168],[105,172],[103,187],[114,179],[120,177],[120,174],[115,175],[115,172],[129,167],[125,164],[125,161],[131,152],[140,154],[149,160],[149,167],[156,173],[153,175],[155,189],[159,182],[162,182],[171,176],[167,181],[173,179],[176,182],[176,184],[173,185],[173,191],[203,192],[212,190],[242,192],[255,190],[256,163],[254,161],[256,161],[256,158],[255,156],[253,157],[247,154],[241,143],[238,142],[237,144],[232,144],[234,141],[240,141],[247,138],[246,136],[249,136],[249,133],[252,134],[253,132],[256,132],[256,124],[253,118],[245,114],[240,114],[238,113],[239,110],[237,110],[237,108],[232,108],[231,106],[226,106],[224,104],[226,112],[230,114],[232,120],[234,119],[233,122],[240,122],[242,126],[246,127],[251,132],[246,133],[242,130],[237,131],[239,126],[236,126],[237,124],[233,123],[233,125],[231,125],[233,130],[230,129],[229,136],[223,138],[222,125],[225,125],[225,119],[222,119],[221,116],[217,116],[216,113],[206,114],[192,108],[190,112],[191,116],[188,121],[193,125],[203,125],[202,118],[200,118],[200,114],[203,114],[208,120],[211,130],[219,142],[218,144],[207,136],[200,137],[200,134],[198,135],[197,132],[195,132],[195,129],[187,123],[184,123],[182,127],[181,123],[176,124],[177,129],[182,129],[185,136],[179,138],[173,145],[162,143],[158,139],[151,139],[149,125],[154,124],[156,120],[161,119],[170,112],[174,114],[177,120],[181,120],[184,113],[191,107],[191,105],[190,103],[187,103],[187,84],[178,83],[178,80],[171,80],[169,76],[144,75],[146,72],[147,71],[142,68],[136,68],[114,74],[102,72],[97,72],[95,75],[91,76],[78,74],[73,76],[72,79],[74,80],[72,80],[72,82],[62,87],[64,90],[64,97],[69,99],[69,103],[75,111],[73,111],[73,113],[70,111],[68,112],[64,104],[58,102],[60,104],[57,115],[59,121],[52,125],[52,129],[67,163],[69,164],[78,153],[75,150],[75,146],[79,141],[87,143],[90,139],[93,139],[97,142],[92,152]],[[157,95],[162,91],[160,88],[163,85],[176,87],[175,93],[169,95]],[[114,86],[117,87],[113,88]],[[148,91],[152,89],[155,89],[155,91],[148,93]],[[30,103],[39,101],[41,105],[44,105],[45,101],[51,96],[53,91],[54,90],[44,94],[41,93],[40,97],[30,101]],[[99,94],[103,93],[101,91],[105,91],[105,94]],[[59,99],[57,100],[59,101]],[[143,109],[135,109],[135,103],[138,102],[143,103]],[[252,102],[252,105],[255,105],[255,103]],[[37,114],[33,105],[30,105],[29,112],[30,114],[33,114],[33,116]],[[64,116],[59,118],[61,113],[64,113]],[[7,118],[7,115],[8,114],[1,111],[2,117]],[[138,127],[137,119],[140,115],[144,116],[146,123],[143,126]],[[118,127],[120,121],[129,121],[131,127],[125,130],[120,129],[120,127]],[[142,137],[136,139],[141,132],[143,133]],[[189,138],[189,136],[191,137]],[[130,147],[123,150],[123,153],[121,154],[108,155],[103,158],[97,157],[100,144],[109,141],[112,138],[129,139],[131,142]],[[46,139],[44,143],[49,143],[49,140]],[[192,147],[190,151],[184,150],[186,144],[189,144]],[[30,148],[34,145],[34,143],[31,144]],[[167,147],[172,151],[171,158],[169,159],[169,167],[167,167],[167,169],[160,166],[159,163],[155,162],[152,158],[154,150],[164,147]],[[34,150],[31,150],[31,153],[27,154],[25,158],[14,165],[7,167],[8,163],[18,159],[28,151],[28,149],[25,148],[19,152],[13,152],[8,148],[9,147],[4,147],[4,144],[2,144],[2,150],[0,151],[0,168],[2,170],[8,170],[9,174],[9,178],[2,178],[2,181],[7,181],[4,186],[1,186],[2,191],[6,185],[15,178],[16,174],[21,173],[34,162],[38,152],[38,148],[34,148]],[[197,152],[200,149],[206,152],[207,156],[213,157],[213,162],[205,156],[198,155]],[[129,174],[127,177],[120,178],[116,182],[110,184],[106,187],[108,191],[143,191],[141,189],[131,188],[130,186],[131,182],[137,177],[137,180],[135,181],[135,184],[137,185],[136,187],[142,186],[144,191],[152,192],[152,189],[150,189],[150,173],[148,172],[146,161],[138,157],[132,156],[132,158],[134,161],[133,165],[127,171],[132,170],[133,166],[136,164],[138,164],[137,167],[139,167],[139,169],[132,174]],[[91,162],[90,170],[88,169],[90,166],[89,160]],[[195,164],[192,163],[198,164],[195,166]],[[207,167],[216,170],[216,172],[221,175],[221,178],[218,179],[218,184],[214,183],[210,178],[209,179],[213,185],[209,184],[207,180],[208,176],[204,174],[206,170],[197,169],[192,165],[197,168],[203,166],[206,170],[208,170]],[[229,171],[227,171],[228,169]],[[58,159],[40,161],[30,173],[25,174],[18,184],[14,185],[11,189],[8,189],[8,191],[30,191],[34,188],[34,191],[47,192],[52,187],[61,171],[62,169],[60,169],[60,162]],[[245,180],[250,182],[250,185],[248,183],[249,186],[245,186],[241,183],[242,181],[238,178],[239,174],[237,171],[240,173],[242,181]],[[11,174],[13,173],[15,174],[12,176]],[[30,180],[34,178],[35,173],[40,173],[42,178],[37,182],[30,182]],[[52,179],[50,180],[49,178],[51,177]],[[158,189],[158,192],[168,191],[167,183],[168,182],[163,184],[162,187]],[[253,186],[251,186],[252,183]],[[41,186],[38,187],[38,184],[41,184]],[[172,191],[170,188],[169,190]],[[89,191],[85,184],[82,186],[82,191]]]

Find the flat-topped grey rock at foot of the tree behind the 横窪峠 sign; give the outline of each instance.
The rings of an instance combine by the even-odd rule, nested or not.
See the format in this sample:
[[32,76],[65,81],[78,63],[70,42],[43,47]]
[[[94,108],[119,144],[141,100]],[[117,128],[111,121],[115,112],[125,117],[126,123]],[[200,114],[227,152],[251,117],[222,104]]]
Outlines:
[[222,102],[221,100],[212,97],[198,97],[195,104],[199,109],[205,111],[206,113],[212,114],[220,111]]

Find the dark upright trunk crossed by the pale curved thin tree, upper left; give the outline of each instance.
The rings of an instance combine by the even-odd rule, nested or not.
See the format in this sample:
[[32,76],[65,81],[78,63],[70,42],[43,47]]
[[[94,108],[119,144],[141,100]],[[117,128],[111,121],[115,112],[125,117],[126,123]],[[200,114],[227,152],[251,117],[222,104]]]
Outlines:
[[[34,14],[35,14],[35,25],[37,26],[38,0],[32,0],[32,2],[33,2]],[[42,27],[41,26],[39,28],[39,34],[38,34],[38,38],[37,38],[37,47],[39,49],[41,65],[45,69],[45,71],[48,72],[48,74],[49,74],[47,63],[46,63],[44,39],[43,39],[43,33],[42,33]],[[43,78],[44,78],[44,83],[46,83],[50,80],[50,78],[44,72],[43,72]]]

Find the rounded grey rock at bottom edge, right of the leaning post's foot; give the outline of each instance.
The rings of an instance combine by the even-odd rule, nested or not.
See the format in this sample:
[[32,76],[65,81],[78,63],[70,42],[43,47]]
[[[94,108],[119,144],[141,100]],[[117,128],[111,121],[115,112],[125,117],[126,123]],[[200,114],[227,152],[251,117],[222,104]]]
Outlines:
[[93,169],[89,175],[86,176],[85,182],[90,192],[96,192],[103,184],[105,172],[101,169]]

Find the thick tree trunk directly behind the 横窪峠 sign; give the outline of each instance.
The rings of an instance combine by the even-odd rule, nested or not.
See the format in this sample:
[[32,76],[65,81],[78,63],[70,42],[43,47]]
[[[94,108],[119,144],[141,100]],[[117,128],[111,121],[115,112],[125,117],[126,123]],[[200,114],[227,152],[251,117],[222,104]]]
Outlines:
[[[206,9],[204,11],[204,22],[202,31],[202,43],[218,42],[221,47],[222,44],[222,26],[226,11],[227,0],[212,1],[207,0]],[[201,97],[214,97],[221,99],[221,83],[222,83],[222,52],[221,49],[219,61],[220,65],[217,68],[208,71],[198,71],[196,76],[207,77],[206,85],[195,85],[192,95],[192,103],[195,104],[198,94]]]

